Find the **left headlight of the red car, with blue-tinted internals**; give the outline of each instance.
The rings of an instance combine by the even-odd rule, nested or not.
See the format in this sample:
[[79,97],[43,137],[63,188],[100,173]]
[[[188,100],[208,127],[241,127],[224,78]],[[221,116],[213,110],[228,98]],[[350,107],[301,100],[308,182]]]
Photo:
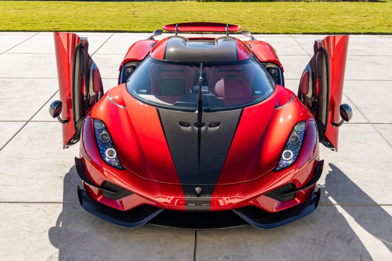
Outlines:
[[94,119],[94,134],[98,145],[99,154],[107,164],[123,169],[120,158],[117,155],[116,147],[110,137],[109,131],[105,124],[99,119]]

